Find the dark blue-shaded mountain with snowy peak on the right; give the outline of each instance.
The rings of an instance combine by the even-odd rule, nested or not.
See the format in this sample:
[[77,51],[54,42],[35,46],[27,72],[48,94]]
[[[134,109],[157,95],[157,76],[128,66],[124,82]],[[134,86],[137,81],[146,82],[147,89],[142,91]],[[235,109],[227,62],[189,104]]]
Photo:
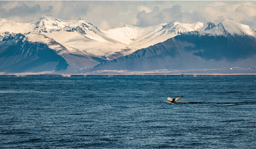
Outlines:
[[[198,31],[172,37],[154,46],[107,61],[94,70],[241,73],[256,68],[256,31],[244,24],[224,20],[217,26],[208,23]],[[231,68],[231,69],[230,69]],[[236,71],[238,72],[238,71]]]

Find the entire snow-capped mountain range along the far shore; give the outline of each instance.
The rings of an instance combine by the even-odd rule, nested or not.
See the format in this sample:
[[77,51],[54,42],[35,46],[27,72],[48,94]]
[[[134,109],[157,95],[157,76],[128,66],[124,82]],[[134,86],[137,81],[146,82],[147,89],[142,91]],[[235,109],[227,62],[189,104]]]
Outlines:
[[[232,20],[224,20],[216,26],[211,22],[189,24],[172,21],[149,27],[125,25],[99,30],[81,18],[71,20],[44,16],[29,23],[1,19],[0,63],[4,62],[4,64],[0,65],[0,72],[58,71],[59,73],[79,73],[90,71],[102,62],[105,63],[94,69],[165,69],[172,67],[169,67],[165,58],[162,57],[161,60],[160,55],[170,56],[173,60],[172,55],[175,53],[172,52],[181,54],[185,52],[185,54],[180,55],[185,59],[184,63],[191,57],[193,59],[201,58],[202,62],[206,60],[204,63],[207,63],[207,60],[216,61],[215,58],[212,58],[215,51],[209,50],[209,47],[214,49],[213,46],[216,46],[218,50],[228,51],[230,50],[229,47],[236,45],[241,49],[253,51],[247,48],[254,48],[255,35],[255,31],[249,26]],[[242,44],[241,41],[244,43]],[[28,44],[29,49],[25,49]],[[246,46],[248,44],[250,47]],[[38,47],[38,45],[40,46]],[[46,52],[42,55],[42,52],[38,52],[38,50],[44,51],[43,47],[46,51],[51,51],[49,52],[51,54]],[[152,47],[154,48],[152,49]],[[171,50],[174,47],[176,47],[176,51]],[[202,48],[206,49],[203,50]],[[139,54],[142,51],[143,53]],[[208,54],[205,54],[204,57],[200,56],[200,54],[207,52]],[[213,54],[209,54],[210,52]],[[232,55],[232,51],[229,52]],[[29,59],[31,58],[30,55],[34,55],[34,58]],[[132,57],[136,55],[139,56],[136,59],[138,62],[136,62],[137,64],[132,62],[136,65],[133,66],[129,63],[133,61]],[[56,58],[58,56],[61,58]],[[129,63],[123,60],[124,57],[129,59]],[[155,58],[151,59],[152,57]],[[224,56],[223,59],[227,60],[228,56]],[[140,60],[143,60],[143,65],[140,65]],[[156,60],[156,62],[152,60]],[[30,66],[27,63],[33,63],[33,67],[25,69],[25,67]],[[184,63],[183,66],[185,66]],[[190,61],[187,63],[192,64]],[[131,67],[126,67],[127,65]],[[192,67],[189,66],[189,68]]]

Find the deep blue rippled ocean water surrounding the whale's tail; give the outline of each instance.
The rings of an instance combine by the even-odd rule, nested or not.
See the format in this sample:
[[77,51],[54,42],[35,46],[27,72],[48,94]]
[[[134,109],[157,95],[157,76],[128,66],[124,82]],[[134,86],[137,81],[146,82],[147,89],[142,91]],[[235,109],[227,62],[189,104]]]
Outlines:
[[255,149],[256,77],[0,77],[0,148]]

